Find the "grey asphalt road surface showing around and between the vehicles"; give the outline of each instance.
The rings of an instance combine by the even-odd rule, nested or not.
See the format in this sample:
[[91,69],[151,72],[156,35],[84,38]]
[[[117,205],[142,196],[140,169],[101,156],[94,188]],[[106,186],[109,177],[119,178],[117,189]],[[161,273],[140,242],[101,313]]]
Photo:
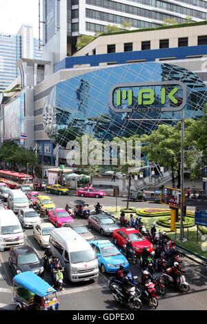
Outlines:
[[[66,203],[73,205],[77,196],[57,196],[50,194],[55,201],[57,207],[65,207]],[[115,206],[114,197],[104,197],[103,199],[84,198],[90,205],[90,210],[94,209],[97,201],[103,206]],[[199,209],[202,209],[201,203]],[[126,199],[118,198],[117,205],[119,207],[126,207]],[[164,207],[157,203],[147,201],[146,203],[135,202],[130,203],[130,207]],[[188,210],[195,210],[197,206],[190,204]],[[43,221],[48,221],[48,218],[43,218]],[[88,224],[83,219],[83,223]],[[97,239],[103,239],[103,236],[92,230]],[[37,250],[40,256],[43,256],[43,249],[39,246],[32,235],[32,229],[26,229],[24,232],[25,244],[32,245]],[[110,239],[110,237],[108,237]],[[181,292],[174,292],[171,287],[166,287],[166,296],[158,295],[159,306],[157,310],[207,310],[207,270],[203,265],[200,265],[186,257],[182,257],[183,267],[186,272],[186,280],[190,284],[190,292],[183,294]],[[8,250],[0,253],[0,310],[14,310],[12,304],[12,272],[8,265]],[[132,274],[140,275],[139,265],[131,265]],[[45,279],[52,283],[50,274],[46,272]],[[114,301],[110,290],[108,289],[108,280],[110,275],[102,274],[100,272],[97,282],[86,283],[70,283],[66,282],[66,286],[58,293],[60,306],[59,310],[132,310],[130,306],[119,304]],[[143,304],[143,310],[149,310],[147,303]]]

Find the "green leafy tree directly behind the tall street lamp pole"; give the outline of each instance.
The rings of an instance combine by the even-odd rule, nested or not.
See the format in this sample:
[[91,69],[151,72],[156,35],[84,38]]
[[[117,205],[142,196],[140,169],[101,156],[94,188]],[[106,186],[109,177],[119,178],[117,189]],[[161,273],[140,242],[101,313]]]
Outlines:
[[[190,136],[190,130],[195,125],[193,119],[186,119],[184,136],[184,163],[189,170],[199,154],[195,148],[195,139]],[[172,186],[175,187],[177,174],[177,188],[181,186],[181,122],[175,125],[159,125],[150,135],[141,136],[144,143],[141,152],[148,156],[148,161],[159,163],[172,172]]]

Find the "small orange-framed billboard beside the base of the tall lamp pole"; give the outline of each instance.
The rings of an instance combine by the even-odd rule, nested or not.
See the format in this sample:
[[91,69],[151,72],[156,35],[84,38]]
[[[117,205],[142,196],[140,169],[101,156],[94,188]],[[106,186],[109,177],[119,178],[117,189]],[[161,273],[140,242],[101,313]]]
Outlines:
[[181,190],[175,188],[164,187],[161,190],[161,203],[164,205],[169,205],[171,207],[180,207],[180,196]]

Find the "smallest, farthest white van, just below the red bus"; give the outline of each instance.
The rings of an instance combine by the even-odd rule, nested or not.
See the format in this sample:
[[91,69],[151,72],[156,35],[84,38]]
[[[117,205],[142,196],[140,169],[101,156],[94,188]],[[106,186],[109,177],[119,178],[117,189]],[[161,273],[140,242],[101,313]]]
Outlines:
[[19,212],[23,208],[29,208],[28,198],[24,192],[19,189],[10,190],[8,194],[8,207],[13,212]]

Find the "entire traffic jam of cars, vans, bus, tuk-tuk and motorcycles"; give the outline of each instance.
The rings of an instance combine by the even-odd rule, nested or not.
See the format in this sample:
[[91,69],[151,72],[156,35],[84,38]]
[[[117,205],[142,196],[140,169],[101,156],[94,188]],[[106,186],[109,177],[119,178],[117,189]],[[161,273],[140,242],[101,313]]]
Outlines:
[[[166,286],[185,293],[190,289],[175,242],[166,232],[157,232],[155,225],[147,230],[132,214],[128,219],[121,212],[115,219],[99,201],[90,210],[81,200],[99,199],[104,192],[83,188],[70,207],[70,190],[61,185],[35,183],[28,174],[3,170],[0,181],[0,251],[9,251],[16,310],[59,310],[58,294],[68,281],[97,282],[100,273],[107,276],[111,298],[121,309],[141,310],[143,304],[157,309]],[[66,206],[57,208],[49,194],[65,195]],[[26,229],[43,257],[24,243]]]

